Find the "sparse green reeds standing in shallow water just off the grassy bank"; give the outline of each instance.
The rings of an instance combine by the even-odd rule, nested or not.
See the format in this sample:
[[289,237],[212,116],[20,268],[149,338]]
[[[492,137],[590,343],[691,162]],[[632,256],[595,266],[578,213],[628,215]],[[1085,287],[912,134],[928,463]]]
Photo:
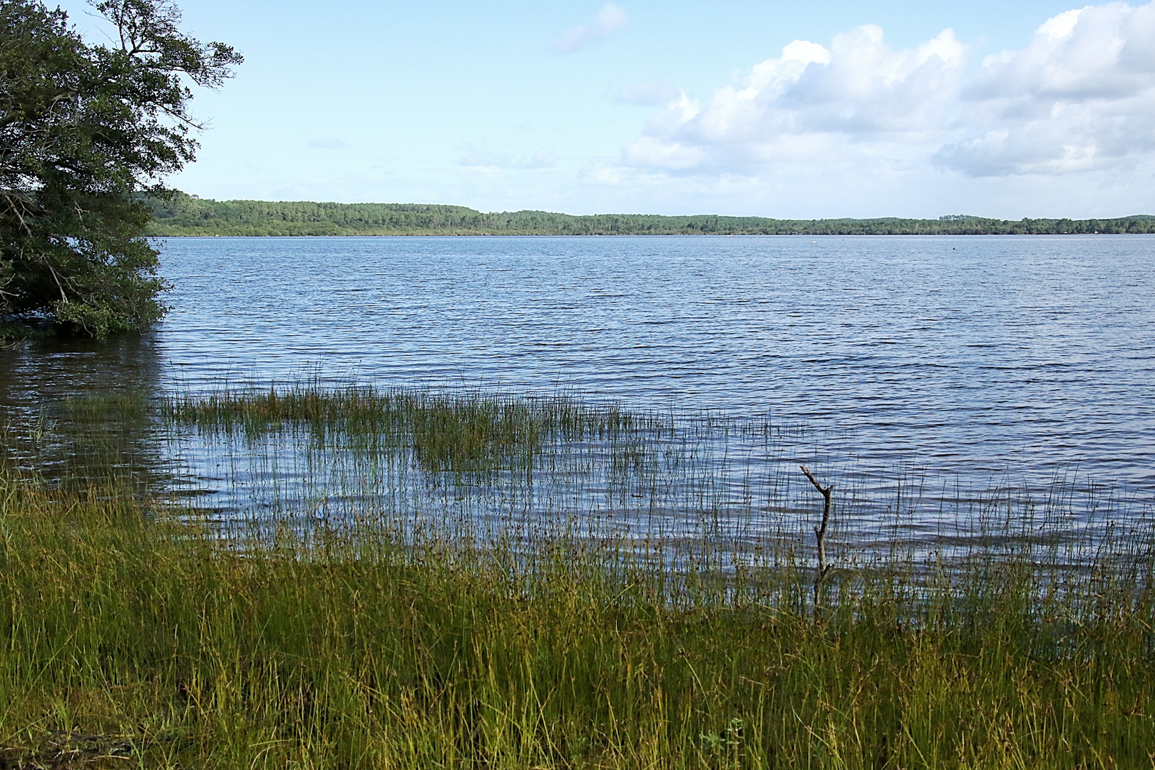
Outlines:
[[976,541],[1030,541],[1080,561],[1113,523],[1150,514],[1150,501],[1076,483],[1074,472],[1043,488],[1006,478],[934,491],[916,466],[857,472],[834,459],[847,453],[826,436],[766,418],[626,410],[566,393],[306,382],[165,398],[157,413],[163,454],[186,463],[182,488],[223,519],[295,516],[307,526],[372,508],[498,532],[561,521],[587,537],[657,538],[722,556],[790,538],[805,548],[820,499],[799,462],[836,483],[834,561],[893,560],[896,550],[952,559]]

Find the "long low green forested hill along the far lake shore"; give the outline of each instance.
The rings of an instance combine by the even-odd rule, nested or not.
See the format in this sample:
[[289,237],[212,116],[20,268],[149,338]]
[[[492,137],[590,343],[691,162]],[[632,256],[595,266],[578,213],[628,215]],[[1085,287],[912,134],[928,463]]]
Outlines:
[[1155,216],[1117,219],[767,219],[649,214],[482,214],[462,205],[151,200],[149,236],[982,236],[1155,233]]

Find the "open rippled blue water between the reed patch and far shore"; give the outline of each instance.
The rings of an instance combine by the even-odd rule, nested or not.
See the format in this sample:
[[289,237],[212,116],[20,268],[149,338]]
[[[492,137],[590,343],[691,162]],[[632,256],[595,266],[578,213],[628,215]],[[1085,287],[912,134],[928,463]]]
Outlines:
[[303,376],[574,389],[767,419],[783,468],[879,509],[901,481],[926,528],[994,489],[1155,498],[1153,237],[170,239],[163,264],[155,332],[2,353],[9,410]]

